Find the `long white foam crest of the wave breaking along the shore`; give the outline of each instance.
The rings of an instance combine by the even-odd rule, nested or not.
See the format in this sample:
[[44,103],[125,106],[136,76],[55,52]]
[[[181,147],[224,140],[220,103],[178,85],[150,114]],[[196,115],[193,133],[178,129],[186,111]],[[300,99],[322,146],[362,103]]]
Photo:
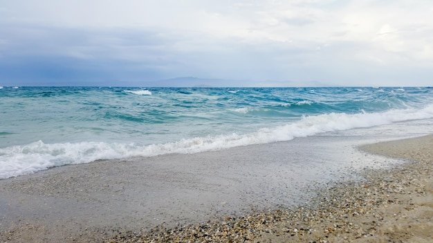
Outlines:
[[254,133],[194,137],[178,142],[138,146],[105,142],[45,144],[42,141],[24,146],[0,148],[0,179],[35,173],[53,166],[82,164],[97,159],[120,159],[155,156],[168,153],[199,153],[235,146],[266,144],[308,137],[319,133],[352,128],[366,128],[414,119],[433,118],[433,105],[421,110],[389,110],[385,113],[329,113],[303,117],[297,122],[274,128],[262,128]]

